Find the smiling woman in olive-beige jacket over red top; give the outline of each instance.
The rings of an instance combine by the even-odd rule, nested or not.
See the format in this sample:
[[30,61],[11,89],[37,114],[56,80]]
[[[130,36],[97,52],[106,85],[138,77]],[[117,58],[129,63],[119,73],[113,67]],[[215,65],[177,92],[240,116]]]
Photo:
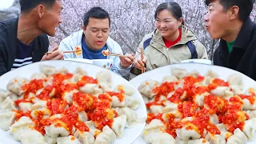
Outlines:
[[[182,9],[176,2],[164,2],[155,11],[156,29],[146,34],[138,46],[134,67],[140,69],[146,63],[146,70],[175,64],[186,59],[207,59],[205,46],[184,26]],[[141,59],[141,49],[144,59]],[[132,71],[133,73],[133,71]],[[136,74],[136,72],[135,72]]]

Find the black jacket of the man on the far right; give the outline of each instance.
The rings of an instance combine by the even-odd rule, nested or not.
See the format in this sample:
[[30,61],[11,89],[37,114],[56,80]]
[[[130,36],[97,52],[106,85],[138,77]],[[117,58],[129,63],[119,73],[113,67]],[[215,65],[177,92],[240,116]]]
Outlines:
[[243,23],[230,54],[226,41],[220,41],[214,52],[214,65],[237,70],[256,80],[256,24],[250,18]]

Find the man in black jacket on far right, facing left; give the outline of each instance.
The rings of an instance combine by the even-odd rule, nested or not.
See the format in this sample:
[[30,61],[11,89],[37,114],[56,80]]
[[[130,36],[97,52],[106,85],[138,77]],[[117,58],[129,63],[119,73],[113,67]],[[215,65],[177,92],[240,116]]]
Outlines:
[[221,38],[214,65],[238,70],[256,80],[256,25],[250,20],[255,0],[206,0],[206,30]]

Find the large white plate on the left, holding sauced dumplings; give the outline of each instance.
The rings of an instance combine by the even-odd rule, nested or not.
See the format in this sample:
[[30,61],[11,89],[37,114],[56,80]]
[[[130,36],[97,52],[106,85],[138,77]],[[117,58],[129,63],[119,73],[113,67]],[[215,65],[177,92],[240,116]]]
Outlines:
[[[0,89],[6,90],[6,85],[10,81],[11,78],[15,78],[17,76],[23,77],[23,78],[30,78],[30,76],[36,72],[39,72],[39,66],[41,65],[49,65],[49,66],[55,66],[56,68],[62,68],[65,67],[70,72],[74,72],[78,67],[81,67],[83,70],[86,70],[89,76],[96,77],[96,73],[102,70],[106,70],[100,66],[94,66],[91,64],[86,64],[84,62],[72,62],[72,61],[45,61],[45,62],[35,62],[27,66],[22,66],[21,68],[18,68],[16,70],[12,70],[6,74],[3,74],[0,77]],[[109,70],[110,71],[110,70]],[[110,71],[112,80],[113,80],[113,86],[117,86],[118,84],[127,84],[129,86],[132,86],[130,82],[126,81],[126,79],[122,78],[118,74],[114,74],[114,72]],[[143,102],[141,94],[139,94],[138,90],[136,90],[136,93],[133,95],[134,98],[138,98],[141,101],[141,105],[138,107],[137,110],[135,110],[138,113],[138,117],[140,119],[146,118],[146,106]],[[138,126],[135,126],[134,128],[126,128],[123,130],[123,137],[120,139],[117,139],[114,141],[114,144],[130,144],[134,142],[136,138],[142,133],[142,130],[144,129],[146,123],[142,122],[138,124]],[[14,138],[11,134],[7,133],[6,131],[0,129],[0,143],[3,144],[18,144],[21,142],[14,141]]]

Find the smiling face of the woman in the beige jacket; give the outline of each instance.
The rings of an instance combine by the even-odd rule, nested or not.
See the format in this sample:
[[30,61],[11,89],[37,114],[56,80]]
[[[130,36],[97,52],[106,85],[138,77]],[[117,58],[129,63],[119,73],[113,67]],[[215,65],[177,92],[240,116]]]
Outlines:
[[177,20],[169,10],[162,10],[158,12],[155,26],[163,38],[169,38],[177,33],[179,26],[182,26],[182,18]]

